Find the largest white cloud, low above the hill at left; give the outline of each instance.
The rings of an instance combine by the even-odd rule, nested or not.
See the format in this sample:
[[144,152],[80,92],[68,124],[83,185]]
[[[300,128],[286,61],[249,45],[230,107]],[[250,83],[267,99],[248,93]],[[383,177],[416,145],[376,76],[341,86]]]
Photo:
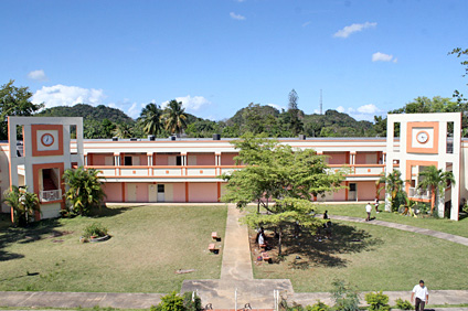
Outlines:
[[105,97],[103,89],[57,84],[54,86],[43,86],[41,89],[38,89],[31,101],[34,104],[44,103],[45,108],[73,106],[75,104],[89,104],[96,106],[102,104]]

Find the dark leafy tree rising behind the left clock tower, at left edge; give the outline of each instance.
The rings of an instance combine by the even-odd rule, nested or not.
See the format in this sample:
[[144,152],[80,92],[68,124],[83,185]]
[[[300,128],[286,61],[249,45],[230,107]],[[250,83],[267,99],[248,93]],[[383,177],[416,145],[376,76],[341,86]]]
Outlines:
[[17,87],[14,81],[0,87],[0,140],[8,139],[8,116],[32,116],[43,107],[31,103],[32,93],[28,87]]

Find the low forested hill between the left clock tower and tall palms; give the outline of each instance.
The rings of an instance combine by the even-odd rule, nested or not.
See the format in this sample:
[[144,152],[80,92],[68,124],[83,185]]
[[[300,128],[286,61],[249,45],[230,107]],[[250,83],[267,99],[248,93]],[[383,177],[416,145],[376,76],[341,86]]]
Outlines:
[[87,104],[77,104],[75,106],[57,106],[44,109],[36,114],[40,117],[83,117],[84,120],[92,119],[96,121],[103,121],[104,119],[108,119],[111,122],[120,124],[132,124],[134,120],[127,116],[124,111],[107,107],[104,105],[99,105],[93,107]]

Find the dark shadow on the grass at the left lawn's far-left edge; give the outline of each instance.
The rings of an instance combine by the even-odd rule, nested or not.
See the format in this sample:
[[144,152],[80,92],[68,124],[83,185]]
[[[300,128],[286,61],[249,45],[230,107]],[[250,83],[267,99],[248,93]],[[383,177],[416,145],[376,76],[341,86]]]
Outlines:
[[0,218],[0,261],[24,257],[22,254],[6,250],[12,244],[30,244],[46,237],[63,235],[57,230],[62,226],[59,219],[44,219],[29,224],[26,227],[14,227],[9,216],[4,214]]

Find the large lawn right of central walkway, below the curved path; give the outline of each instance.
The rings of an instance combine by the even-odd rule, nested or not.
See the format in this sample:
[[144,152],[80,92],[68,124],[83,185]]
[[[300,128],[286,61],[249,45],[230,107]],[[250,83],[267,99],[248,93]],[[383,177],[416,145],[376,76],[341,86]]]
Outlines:
[[333,279],[359,290],[411,290],[419,279],[429,289],[468,289],[468,247],[421,234],[334,222],[332,240],[285,244],[285,260],[254,264],[255,278],[290,279],[298,292],[328,291]]

